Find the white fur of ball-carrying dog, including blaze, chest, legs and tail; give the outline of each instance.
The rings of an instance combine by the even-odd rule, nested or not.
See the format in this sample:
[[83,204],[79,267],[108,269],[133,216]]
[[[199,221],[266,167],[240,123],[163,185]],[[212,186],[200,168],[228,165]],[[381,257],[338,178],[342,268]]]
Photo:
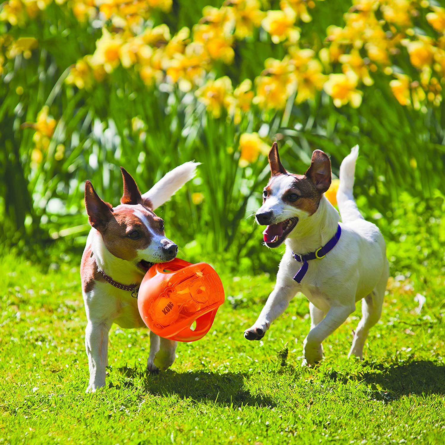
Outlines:
[[[177,190],[195,175],[198,163],[186,162],[167,173],[161,181],[148,191],[149,198],[156,208],[166,202]],[[165,236],[156,234],[143,214],[143,209],[130,206],[133,213],[141,220],[152,234],[150,245],[141,251],[132,261],[117,258],[106,248],[100,232],[92,228],[87,239],[85,251],[89,247],[93,252],[97,266],[115,281],[122,284],[139,284],[145,273],[137,264],[142,260],[162,262],[162,244],[170,242]],[[145,324],[138,311],[138,300],[130,291],[123,291],[107,282],[96,282],[93,290],[83,292],[85,312],[88,320],[85,329],[85,348],[89,364],[89,384],[86,392],[95,392],[105,386],[105,368],[108,366],[108,333],[116,323],[121,328],[141,328]],[[164,371],[173,364],[177,342],[160,338],[150,332],[150,353],[147,369]]]

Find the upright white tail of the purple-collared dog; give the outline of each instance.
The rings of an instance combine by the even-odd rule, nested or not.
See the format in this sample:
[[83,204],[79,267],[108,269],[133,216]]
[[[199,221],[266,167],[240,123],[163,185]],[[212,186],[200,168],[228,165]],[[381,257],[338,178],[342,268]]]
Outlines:
[[352,190],[354,188],[354,174],[356,171],[356,160],[359,155],[359,146],[352,147],[351,153],[343,159],[340,165],[340,185],[337,190],[337,205],[340,210],[341,220],[354,221],[363,219]]

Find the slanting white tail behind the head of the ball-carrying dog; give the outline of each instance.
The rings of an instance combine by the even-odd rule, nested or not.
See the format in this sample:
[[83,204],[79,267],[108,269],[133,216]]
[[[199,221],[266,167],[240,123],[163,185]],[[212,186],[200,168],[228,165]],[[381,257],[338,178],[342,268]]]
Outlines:
[[168,201],[186,182],[196,175],[196,167],[200,162],[185,162],[169,171],[161,180],[142,195],[144,199],[150,199],[152,209],[155,210]]

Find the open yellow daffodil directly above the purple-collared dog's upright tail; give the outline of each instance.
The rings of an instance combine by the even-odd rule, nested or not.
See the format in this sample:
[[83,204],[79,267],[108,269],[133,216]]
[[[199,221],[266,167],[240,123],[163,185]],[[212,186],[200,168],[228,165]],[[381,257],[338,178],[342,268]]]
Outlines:
[[356,90],[357,83],[358,77],[352,71],[348,71],[346,74],[329,74],[323,89],[332,97],[337,108],[348,102],[353,108],[358,108],[361,104],[362,93]]

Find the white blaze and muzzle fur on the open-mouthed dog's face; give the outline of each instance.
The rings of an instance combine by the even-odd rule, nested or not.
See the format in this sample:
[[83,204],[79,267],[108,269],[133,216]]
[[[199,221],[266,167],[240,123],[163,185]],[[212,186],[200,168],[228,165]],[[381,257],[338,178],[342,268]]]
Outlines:
[[264,204],[256,213],[264,213],[272,210],[271,224],[280,223],[287,218],[299,216],[299,210],[283,201],[283,196],[294,183],[295,178],[286,174],[280,174],[273,178],[269,184],[270,194]]

